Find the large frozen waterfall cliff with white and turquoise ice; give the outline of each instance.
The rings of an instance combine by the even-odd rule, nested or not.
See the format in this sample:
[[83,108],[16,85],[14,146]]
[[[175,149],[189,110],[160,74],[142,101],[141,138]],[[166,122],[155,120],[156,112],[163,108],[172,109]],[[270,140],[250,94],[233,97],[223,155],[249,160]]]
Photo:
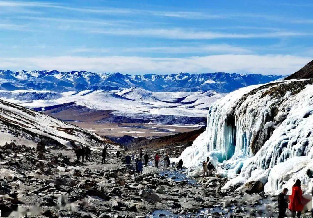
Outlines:
[[192,168],[210,156],[218,175],[230,178],[224,188],[259,180],[265,191],[275,192],[299,178],[308,192],[312,147],[313,79],[287,80],[218,100],[208,111],[206,131],[181,158]]

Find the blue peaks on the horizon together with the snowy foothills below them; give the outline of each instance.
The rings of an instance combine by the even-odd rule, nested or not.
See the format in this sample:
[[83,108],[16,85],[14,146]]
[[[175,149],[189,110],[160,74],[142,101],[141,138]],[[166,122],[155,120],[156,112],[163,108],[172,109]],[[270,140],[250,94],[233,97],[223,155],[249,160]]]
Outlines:
[[131,76],[4,70],[0,71],[0,98],[63,120],[204,124],[208,107],[226,93],[282,78],[227,73]]

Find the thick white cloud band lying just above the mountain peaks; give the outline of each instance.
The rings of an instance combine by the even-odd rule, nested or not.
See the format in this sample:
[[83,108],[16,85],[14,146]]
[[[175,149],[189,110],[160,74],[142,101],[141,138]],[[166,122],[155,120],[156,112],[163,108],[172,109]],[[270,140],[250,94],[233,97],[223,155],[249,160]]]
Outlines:
[[291,74],[311,61],[310,57],[291,55],[210,55],[188,58],[147,58],[128,56],[105,57],[26,57],[0,58],[3,69],[89,70],[94,72],[144,73],[203,73],[251,72]]

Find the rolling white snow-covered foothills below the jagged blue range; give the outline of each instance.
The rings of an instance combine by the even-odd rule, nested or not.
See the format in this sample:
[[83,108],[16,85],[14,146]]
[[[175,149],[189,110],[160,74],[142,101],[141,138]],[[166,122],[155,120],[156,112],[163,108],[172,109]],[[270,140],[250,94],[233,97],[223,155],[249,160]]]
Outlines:
[[35,90],[0,92],[1,99],[39,111],[71,103],[87,109],[111,111],[115,115],[132,119],[152,120],[155,123],[167,122],[167,119],[155,120],[156,115],[206,117],[206,109],[224,95],[215,91],[160,93],[134,87],[122,91],[83,90],[61,94]]

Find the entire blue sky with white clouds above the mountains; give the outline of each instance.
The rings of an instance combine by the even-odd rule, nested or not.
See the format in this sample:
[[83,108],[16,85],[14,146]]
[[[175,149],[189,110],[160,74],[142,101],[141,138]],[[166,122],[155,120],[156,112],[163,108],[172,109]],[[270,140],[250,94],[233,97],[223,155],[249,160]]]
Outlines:
[[1,1],[0,69],[291,74],[312,1]]

